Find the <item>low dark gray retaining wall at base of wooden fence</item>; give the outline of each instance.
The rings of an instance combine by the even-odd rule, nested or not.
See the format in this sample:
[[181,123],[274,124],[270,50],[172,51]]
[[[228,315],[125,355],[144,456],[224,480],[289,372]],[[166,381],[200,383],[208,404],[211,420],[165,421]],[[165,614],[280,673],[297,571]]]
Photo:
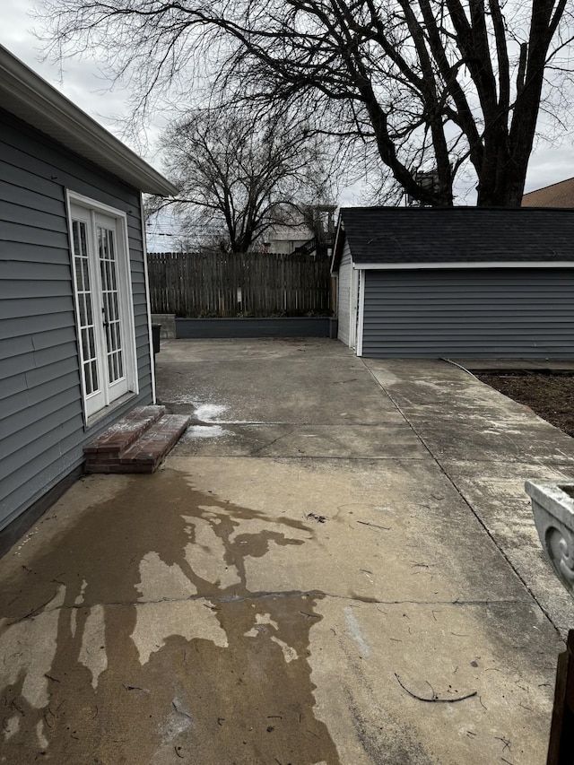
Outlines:
[[332,337],[336,319],[330,317],[177,318],[178,338],[200,337]]

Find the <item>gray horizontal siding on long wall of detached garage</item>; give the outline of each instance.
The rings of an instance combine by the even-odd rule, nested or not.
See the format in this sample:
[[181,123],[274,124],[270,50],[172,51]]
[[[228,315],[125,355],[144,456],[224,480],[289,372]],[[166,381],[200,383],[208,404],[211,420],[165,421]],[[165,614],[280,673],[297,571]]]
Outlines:
[[365,271],[363,356],[574,358],[574,270]]

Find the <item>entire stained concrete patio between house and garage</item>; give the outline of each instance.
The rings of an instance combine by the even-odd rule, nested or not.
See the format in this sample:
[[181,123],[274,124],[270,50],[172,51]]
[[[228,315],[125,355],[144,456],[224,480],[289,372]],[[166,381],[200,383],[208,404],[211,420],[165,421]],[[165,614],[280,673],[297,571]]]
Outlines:
[[543,765],[574,607],[526,478],[574,440],[442,361],[173,341],[194,424],[0,561],[0,762]]

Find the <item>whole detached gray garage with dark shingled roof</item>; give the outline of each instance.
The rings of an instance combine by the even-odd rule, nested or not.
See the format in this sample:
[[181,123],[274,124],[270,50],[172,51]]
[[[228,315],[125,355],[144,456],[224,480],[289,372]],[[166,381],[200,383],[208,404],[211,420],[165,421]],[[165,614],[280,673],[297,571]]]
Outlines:
[[574,358],[574,211],[343,208],[339,339],[371,358]]

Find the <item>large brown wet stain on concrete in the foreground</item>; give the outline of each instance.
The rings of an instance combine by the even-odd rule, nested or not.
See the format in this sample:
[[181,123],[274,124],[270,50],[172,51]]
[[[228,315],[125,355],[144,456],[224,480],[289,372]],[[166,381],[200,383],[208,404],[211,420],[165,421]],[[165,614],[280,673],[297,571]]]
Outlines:
[[[246,580],[248,557],[312,529],[173,470],[124,487],[3,583],[0,761],[336,765],[308,661],[324,595]],[[220,556],[219,575],[200,552]]]

